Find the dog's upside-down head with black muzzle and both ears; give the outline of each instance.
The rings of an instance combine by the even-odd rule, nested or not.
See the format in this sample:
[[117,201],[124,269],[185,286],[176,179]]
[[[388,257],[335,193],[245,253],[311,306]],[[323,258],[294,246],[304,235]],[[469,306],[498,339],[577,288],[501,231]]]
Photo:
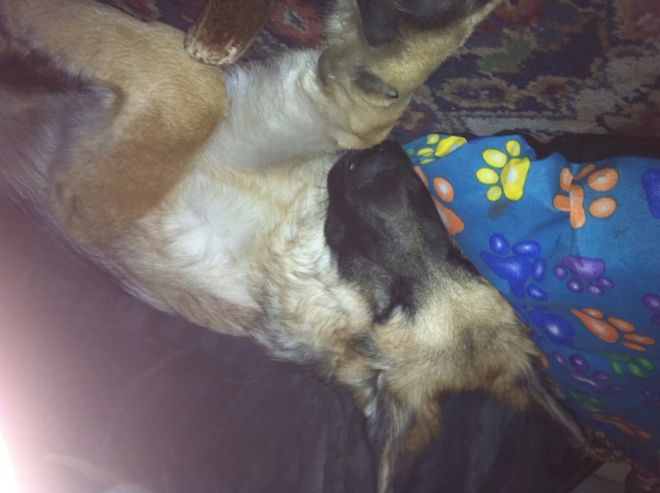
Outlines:
[[536,402],[579,435],[550,395],[526,327],[452,241],[398,144],[345,154],[327,185],[327,248],[370,317],[351,332],[359,356],[334,373],[367,415],[381,493],[404,486],[449,392],[487,390],[516,409]]

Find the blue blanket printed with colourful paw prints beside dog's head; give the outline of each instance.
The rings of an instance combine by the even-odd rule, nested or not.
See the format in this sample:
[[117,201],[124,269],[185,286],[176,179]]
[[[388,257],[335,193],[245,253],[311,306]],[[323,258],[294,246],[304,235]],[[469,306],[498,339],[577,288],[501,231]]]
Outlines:
[[521,136],[404,149],[583,428],[660,475],[660,160],[541,157]]

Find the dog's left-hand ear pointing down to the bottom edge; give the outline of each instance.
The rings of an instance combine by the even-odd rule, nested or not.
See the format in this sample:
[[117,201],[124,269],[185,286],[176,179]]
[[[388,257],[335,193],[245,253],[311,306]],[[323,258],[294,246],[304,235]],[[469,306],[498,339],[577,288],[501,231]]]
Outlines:
[[375,377],[370,394],[365,414],[377,492],[405,491],[415,459],[438,431],[439,403],[413,404],[407,396],[392,391],[383,372]]

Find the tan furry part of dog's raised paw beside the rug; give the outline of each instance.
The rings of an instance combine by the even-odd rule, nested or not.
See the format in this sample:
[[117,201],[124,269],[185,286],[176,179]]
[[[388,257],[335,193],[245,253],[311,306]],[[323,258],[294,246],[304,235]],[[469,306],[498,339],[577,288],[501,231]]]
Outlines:
[[387,45],[370,46],[355,0],[338,0],[326,25],[327,44],[318,62],[325,111],[337,125],[341,147],[364,148],[384,140],[417,87],[454,53],[499,0],[484,0],[449,24],[400,23]]

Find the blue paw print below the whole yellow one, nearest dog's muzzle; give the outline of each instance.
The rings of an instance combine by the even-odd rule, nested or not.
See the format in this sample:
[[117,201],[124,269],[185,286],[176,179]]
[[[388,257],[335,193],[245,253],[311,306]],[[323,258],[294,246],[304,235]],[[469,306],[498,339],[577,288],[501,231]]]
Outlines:
[[[491,251],[482,251],[480,256],[493,274],[508,282],[513,295],[524,300],[525,292],[533,300],[546,301],[548,293],[534,283],[542,283],[548,262],[540,256],[540,244],[527,241],[509,246],[503,234],[493,234],[490,240]],[[509,254],[510,253],[510,254]]]

